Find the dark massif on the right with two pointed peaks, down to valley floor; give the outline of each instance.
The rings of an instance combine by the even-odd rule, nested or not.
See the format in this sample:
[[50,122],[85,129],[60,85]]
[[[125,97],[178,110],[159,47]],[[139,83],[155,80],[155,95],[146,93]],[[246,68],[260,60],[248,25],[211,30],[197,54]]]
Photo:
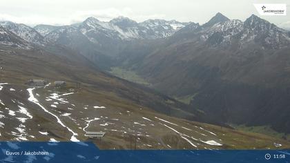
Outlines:
[[160,44],[137,60],[124,55],[120,67],[167,95],[190,97],[193,108],[216,123],[270,125],[290,132],[289,31],[255,15],[242,22],[218,13]]

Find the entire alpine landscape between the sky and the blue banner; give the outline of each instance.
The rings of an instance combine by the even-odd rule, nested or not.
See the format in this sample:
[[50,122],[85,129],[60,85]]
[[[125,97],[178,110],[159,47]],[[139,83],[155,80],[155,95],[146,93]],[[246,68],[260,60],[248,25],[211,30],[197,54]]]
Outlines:
[[[218,13],[202,25],[126,17],[33,28],[0,22],[4,141],[290,148],[289,84],[290,32],[255,15]],[[100,141],[88,131],[106,134]]]

